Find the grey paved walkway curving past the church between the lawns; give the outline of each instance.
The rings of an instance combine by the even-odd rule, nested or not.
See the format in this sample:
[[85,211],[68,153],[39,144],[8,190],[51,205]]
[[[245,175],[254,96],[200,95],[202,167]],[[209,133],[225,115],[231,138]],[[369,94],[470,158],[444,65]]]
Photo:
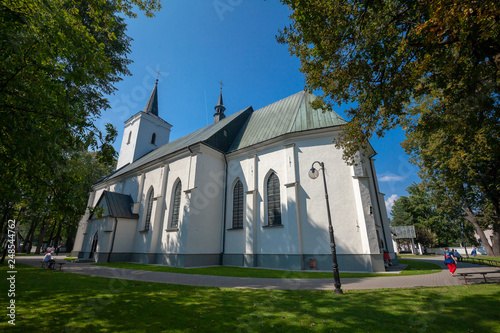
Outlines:
[[[43,256],[17,257],[16,262],[40,267]],[[57,258],[60,258],[58,260]],[[61,262],[62,256],[56,258]],[[408,258],[405,258],[408,259]],[[411,259],[413,260],[413,259]],[[419,259],[422,260],[422,259]],[[442,257],[425,257],[424,261],[433,262],[444,268]],[[177,274],[164,272],[149,272],[122,268],[111,268],[91,265],[88,263],[66,263],[63,271],[75,274],[100,276],[107,278],[180,284],[201,287],[244,288],[244,289],[290,289],[290,290],[333,290],[333,279],[259,279],[239,278],[226,276],[208,276],[194,274]],[[381,289],[381,288],[415,288],[458,286],[465,284],[464,278],[458,273],[495,272],[487,275],[488,282],[500,282],[500,270],[497,267],[481,266],[468,263],[459,263],[455,276],[451,276],[448,269],[435,274],[388,276],[366,278],[343,278],[342,289]],[[467,278],[469,284],[484,283],[482,275]]]

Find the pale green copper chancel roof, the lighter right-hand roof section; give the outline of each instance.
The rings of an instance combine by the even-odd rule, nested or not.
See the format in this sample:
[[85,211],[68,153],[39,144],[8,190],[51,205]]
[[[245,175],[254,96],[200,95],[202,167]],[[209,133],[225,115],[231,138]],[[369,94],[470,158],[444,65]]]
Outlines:
[[229,152],[284,134],[346,124],[337,113],[313,109],[316,96],[305,91],[265,106],[248,118]]

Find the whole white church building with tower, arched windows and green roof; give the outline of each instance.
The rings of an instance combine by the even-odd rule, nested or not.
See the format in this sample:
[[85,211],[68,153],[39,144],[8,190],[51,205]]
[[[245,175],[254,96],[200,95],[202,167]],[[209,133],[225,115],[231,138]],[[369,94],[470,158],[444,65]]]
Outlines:
[[[324,163],[340,271],[384,271],[394,258],[372,157],[347,165],[332,143],[346,124],[301,91],[225,116],[169,142],[157,84],[125,122],[117,170],[93,185],[73,248],[97,262],[331,270]],[[317,166],[317,164],[316,164]]]

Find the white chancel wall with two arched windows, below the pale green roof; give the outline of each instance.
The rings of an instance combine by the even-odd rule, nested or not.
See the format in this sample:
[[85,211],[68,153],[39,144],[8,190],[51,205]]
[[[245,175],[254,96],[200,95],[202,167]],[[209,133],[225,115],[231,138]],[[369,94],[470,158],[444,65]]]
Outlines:
[[[232,189],[237,179],[242,181],[247,194],[243,230],[226,232],[227,254],[331,253],[323,175],[320,172],[314,180],[308,177],[314,161],[325,164],[337,253],[379,253],[375,222],[369,214],[372,205],[369,178],[353,178],[356,171],[344,162],[342,151],[333,145],[333,135],[297,136],[293,141],[285,139],[228,155],[227,229],[232,227]],[[318,164],[315,167],[320,168]],[[280,180],[283,226],[266,228],[266,181],[271,170]],[[252,192],[254,183],[256,191]]]

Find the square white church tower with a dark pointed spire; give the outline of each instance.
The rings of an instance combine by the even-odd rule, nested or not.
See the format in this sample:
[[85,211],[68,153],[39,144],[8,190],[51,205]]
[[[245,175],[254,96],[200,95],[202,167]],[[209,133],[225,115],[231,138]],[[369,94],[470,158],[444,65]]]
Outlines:
[[168,143],[170,125],[158,116],[158,80],[144,110],[125,121],[117,169]]

